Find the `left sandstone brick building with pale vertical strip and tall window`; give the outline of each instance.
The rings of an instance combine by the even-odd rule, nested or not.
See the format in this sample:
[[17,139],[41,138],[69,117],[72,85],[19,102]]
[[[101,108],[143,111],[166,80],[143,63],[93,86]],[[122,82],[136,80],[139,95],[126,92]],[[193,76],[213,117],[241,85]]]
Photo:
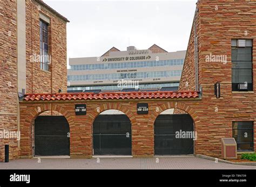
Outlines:
[[[0,4],[0,130],[11,132],[20,128],[18,93],[66,92],[69,20],[40,0]],[[10,159],[19,158],[19,141],[1,139],[0,160],[5,144]]]

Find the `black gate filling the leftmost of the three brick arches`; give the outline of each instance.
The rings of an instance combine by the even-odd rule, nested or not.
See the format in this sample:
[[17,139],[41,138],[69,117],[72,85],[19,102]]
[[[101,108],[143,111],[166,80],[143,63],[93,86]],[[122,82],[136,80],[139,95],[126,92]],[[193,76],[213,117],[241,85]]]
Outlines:
[[64,116],[35,119],[35,156],[70,155],[69,123]]

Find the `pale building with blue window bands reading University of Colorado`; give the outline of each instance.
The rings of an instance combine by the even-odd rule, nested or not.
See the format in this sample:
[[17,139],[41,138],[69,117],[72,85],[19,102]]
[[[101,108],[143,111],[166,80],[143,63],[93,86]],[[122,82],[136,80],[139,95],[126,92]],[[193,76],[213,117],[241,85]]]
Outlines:
[[177,88],[185,55],[153,45],[145,50],[130,46],[127,51],[113,47],[102,56],[71,58],[68,91]]

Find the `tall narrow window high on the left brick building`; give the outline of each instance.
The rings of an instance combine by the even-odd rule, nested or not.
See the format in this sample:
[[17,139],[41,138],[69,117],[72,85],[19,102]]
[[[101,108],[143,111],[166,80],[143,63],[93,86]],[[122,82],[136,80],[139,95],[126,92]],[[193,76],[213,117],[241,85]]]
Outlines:
[[40,67],[49,71],[48,23],[40,19]]

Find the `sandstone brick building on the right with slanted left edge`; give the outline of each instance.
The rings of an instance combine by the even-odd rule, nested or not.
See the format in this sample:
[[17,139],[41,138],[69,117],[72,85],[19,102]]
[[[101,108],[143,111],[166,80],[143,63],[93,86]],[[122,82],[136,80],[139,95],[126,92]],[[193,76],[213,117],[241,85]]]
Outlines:
[[[179,90],[197,90],[197,85],[203,90],[193,107],[200,118],[200,153],[218,156],[220,138],[232,136],[238,150],[255,151],[255,8],[252,1],[198,1]],[[219,99],[214,95],[216,82]]]

